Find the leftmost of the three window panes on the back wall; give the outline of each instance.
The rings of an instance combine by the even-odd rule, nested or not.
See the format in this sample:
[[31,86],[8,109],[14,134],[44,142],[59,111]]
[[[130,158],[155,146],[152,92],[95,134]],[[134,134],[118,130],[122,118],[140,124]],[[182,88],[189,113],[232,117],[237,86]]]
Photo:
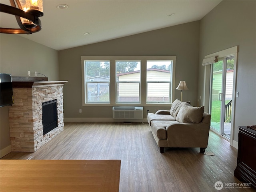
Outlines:
[[110,61],[84,61],[86,103],[110,102]]

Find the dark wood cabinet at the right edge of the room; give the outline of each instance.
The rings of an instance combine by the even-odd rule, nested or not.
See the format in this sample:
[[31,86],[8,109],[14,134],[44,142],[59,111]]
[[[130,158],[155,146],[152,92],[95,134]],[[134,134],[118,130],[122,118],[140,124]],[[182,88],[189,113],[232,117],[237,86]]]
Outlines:
[[239,126],[237,166],[234,176],[256,188],[256,130]]

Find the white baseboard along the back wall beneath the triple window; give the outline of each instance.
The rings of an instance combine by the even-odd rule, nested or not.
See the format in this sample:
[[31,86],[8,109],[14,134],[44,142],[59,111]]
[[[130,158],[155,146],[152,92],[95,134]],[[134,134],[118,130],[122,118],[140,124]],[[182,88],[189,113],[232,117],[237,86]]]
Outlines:
[[64,122],[147,122],[143,119],[113,119],[113,118],[64,118]]

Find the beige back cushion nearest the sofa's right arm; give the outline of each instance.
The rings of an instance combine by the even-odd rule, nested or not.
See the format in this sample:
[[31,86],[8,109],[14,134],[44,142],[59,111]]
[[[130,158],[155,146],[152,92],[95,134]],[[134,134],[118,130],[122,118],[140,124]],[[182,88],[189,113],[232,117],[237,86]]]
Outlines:
[[204,106],[192,107],[190,104],[184,104],[180,108],[176,120],[180,123],[200,123],[203,118]]

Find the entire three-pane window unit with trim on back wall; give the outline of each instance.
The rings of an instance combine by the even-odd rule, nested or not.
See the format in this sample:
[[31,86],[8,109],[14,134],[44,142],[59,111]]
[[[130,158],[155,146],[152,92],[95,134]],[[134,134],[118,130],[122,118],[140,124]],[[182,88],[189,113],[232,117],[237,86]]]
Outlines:
[[169,106],[176,56],[81,56],[83,106]]

